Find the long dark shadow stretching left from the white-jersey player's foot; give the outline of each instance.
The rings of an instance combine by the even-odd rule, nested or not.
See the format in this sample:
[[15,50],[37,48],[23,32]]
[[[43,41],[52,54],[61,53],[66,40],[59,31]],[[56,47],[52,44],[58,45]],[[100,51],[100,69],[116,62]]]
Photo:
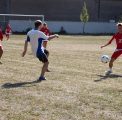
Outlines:
[[10,89],[10,88],[18,88],[18,87],[30,87],[29,85],[35,85],[35,83],[39,83],[37,80],[32,82],[19,82],[19,83],[5,83],[1,87]]

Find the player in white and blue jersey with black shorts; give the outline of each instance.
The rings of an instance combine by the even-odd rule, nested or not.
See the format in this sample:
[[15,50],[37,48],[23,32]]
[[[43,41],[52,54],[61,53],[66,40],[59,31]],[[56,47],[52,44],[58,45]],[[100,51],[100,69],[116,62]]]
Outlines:
[[35,29],[32,29],[27,33],[27,39],[25,40],[24,44],[24,51],[22,53],[22,57],[24,57],[27,52],[28,42],[30,42],[34,56],[44,63],[38,81],[46,80],[44,75],[49,64],[47,55],[44,53],[43,43],[53,38],[58,38],[57,34],[46,36],[43,32],[40,31],[42,26],[43,26],[42,21],[40,20],[35,21]]

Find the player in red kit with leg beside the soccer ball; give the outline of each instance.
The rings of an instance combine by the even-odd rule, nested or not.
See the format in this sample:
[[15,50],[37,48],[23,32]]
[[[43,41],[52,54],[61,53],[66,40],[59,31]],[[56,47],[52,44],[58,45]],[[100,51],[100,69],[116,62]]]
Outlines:
[[101,46],[101,48],[106,47],[111,44],[113,40],[115,40],[117,46],[111,56],[111,60],[109,62],[109,70],[106,71],[106,75],[110,75],[112,73],[113,62],[122,54],[122,23],[118,23],[117,28],[118,32],[113,35],[111,40],[107,44]]

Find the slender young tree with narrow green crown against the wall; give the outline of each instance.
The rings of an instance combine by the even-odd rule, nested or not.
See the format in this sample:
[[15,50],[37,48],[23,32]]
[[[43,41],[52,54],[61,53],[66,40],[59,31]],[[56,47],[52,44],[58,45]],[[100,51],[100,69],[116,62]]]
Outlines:
[[88,10],[86,7],[86,2],[84,1],[84,5],[83,8],[81,10],[81,14],[80,14],[80,20],[81,22],[83,22],[83,34],[85,33],[85,24],[88,22],[89,20],[89,14],[88,14]]

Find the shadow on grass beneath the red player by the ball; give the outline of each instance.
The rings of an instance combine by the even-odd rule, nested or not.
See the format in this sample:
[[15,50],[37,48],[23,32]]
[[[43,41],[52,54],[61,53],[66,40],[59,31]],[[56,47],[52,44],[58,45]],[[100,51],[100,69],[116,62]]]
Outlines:
[[117,74],[110,74],[110,75],[97,75],[100,77],[98,80],[94,80],[94,82],[100,82],[102,80],[106,80],[107,78],[119,78],[122,77],[122,75],[117,75]]

